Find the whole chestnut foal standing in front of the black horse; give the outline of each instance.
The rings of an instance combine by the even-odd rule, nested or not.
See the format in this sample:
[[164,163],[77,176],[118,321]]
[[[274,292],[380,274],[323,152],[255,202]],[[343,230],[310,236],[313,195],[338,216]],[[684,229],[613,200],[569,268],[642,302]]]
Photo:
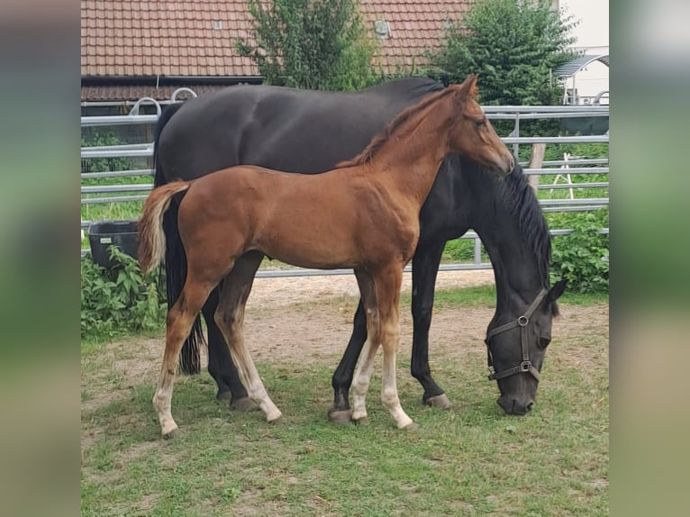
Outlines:
[[368,338],[353,382],[352,420],[367,419],[365,398],[380,345],[381,400],[399,429],[415,426],[400,404],[395,367],[400,287],[419,238],[422,204],[451,153],[496,176],[514,168],[513,155],[475,100],[476,83],[476,76],[468,77],[407,108],[356,158],[320,175],[236,166],[153,190],[140,221],[142,271],[150,272],[164,258],[163,213],[178,193],[177,225],[186,252],[185,286],[168,312],[165,355],[153,397],[164,436],[177,429],[170,407],[180,349],[221,282],[214,321],[232,349],[252,402],[268,422],[281,417],[242,331],[244,307],[263,254],[303,268],[354,269]]

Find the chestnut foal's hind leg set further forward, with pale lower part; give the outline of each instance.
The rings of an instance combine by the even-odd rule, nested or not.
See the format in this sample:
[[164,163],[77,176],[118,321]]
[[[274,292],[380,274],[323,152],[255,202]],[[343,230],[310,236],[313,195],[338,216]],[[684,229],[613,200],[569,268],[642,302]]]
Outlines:
[[262,257],[260,253],[249,252],[237,259],[235,267],[223,282],[221,299],[214,318],[231,349],[232,359],[236,363],[242,383],[247,386],[251,401],[266,413],[268,422],[276,422],[282,413],[268,396],[251,359],[250,350],[244,343],[244,307]]

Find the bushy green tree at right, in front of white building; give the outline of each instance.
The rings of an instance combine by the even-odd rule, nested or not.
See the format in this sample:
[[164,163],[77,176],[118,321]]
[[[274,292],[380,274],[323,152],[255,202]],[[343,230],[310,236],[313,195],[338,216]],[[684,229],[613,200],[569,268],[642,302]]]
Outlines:
[[482,104],[558,104],[563,86],[552,70],[573,58],[575,24],[550,0],[477,0],[446,31],[431,75],[456,83],[477,73]]

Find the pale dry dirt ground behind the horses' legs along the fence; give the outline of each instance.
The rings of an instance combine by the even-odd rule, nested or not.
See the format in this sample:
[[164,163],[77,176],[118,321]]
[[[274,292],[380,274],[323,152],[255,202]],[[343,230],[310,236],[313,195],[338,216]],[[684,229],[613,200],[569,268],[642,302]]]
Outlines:
[[[436,287],[493,282],[491,270],[441,271]],[[403,291],[409,293],[410,289],[411,274],[405,273]],[[245,338],[252,357],[272,362],[309,361],[334,369],[350,339],[357,295],[356,281],[349,275],[257,278],[245,317]],[[432,369],[434,358],[452,360],[468,352],[483,352],[486,326],[493,313],[493,309],[486,307],[434,310],[430,336]],[[561,304],[561,316],[553,322],[554,344],[549,348],[549,356],[574,367],[586,367],[591,361],[607,362],[608,350],[601,346],[593,349],[591,345],[607,342],[608,329],[608,304]],[[401,311],[400,357],[410,358],[412,333],[412,318],[406,306]],[[121,387],[140,385],[141,379],[155,383],[164,346],[162,336],[110,344],[107,354],[124,378]],[[202,360],[205,367],[205,350]],[[86,401],[82,408],[103,404],[98,398]]]

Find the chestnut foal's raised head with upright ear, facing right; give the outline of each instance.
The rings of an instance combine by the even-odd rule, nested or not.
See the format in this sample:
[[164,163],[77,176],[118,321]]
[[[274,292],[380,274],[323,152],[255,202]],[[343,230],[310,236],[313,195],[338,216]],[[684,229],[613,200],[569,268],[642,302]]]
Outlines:
[[448,88],[453,92],[450,151],[474,161],[498,176],[510,174],[515,159],[477,104],[477,76],[470,76],[462,84]]

